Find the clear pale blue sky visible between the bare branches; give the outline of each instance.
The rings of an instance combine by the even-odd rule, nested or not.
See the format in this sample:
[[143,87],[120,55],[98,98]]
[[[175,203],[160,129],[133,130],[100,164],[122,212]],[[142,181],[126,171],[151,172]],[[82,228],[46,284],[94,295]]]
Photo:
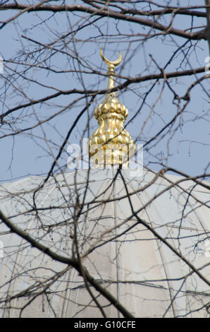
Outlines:
[[[27,1],[22,1],[22,3]],[[58,1],[54,1],[55,3]],[[66,1],[66,3],[72,4],[74,1]],[[79,3],[80,1],[76,1]],[[159,1],[166,4],[166,1]],[[177,5],[178,1],[171,1],[173,5]],[[181,2],[181,1],[180,1]],[[186,1],[191,6],[197,5],[197,1]],[[204,1],[201,1],[202,4]],[[201,9],[203,10],[203,9]],[[0,12],[1,20],[14,15],[14,12]],[[78,21],[81,23],[85,20],[84,13],[77,13],[76,16],[69,15],[70,22],[67,19],[66,13],[56,13],[49,20],[46,20],[51,16],[51,13],[25,13],[16,23],[9,23],[0,30],[1,34],[1,49],[0,54],[5,59],[6,66],[11,69],[17,69],[22,71],[23,67],[17,64],[11,64],[7,62],[16,54],[23,52],[29,52],[33,49],[32,43],[24,38],[30,37],[33,40],[39,40],[39,42],[50,42],[56,35],[65,33],[70,28],[73,30],[78,25]],[[88,15],[86,15],[88,16]],[[167,20],[170,17],[168,16]],[[44,25],[39,25],[40,20],[46,20]],[[204,18],[196,18],[197,25],[204,25],[206,20]],[[175,26],[184,28],[189,26],[190,18],[185,16],[178,16],[175,18]],[[71,26],[70,26],[71,25]],[[126,26],[125,26],[126,25]],[[89,66],[93,66],[94,69],[101,70],[106,73],[106,65],[102,63],[99,48],[104,47],[104,54],[110,59],[116,59],[118,57],[118,50],[121,50],[123,61],[119,68],[116,69],[117,73],[121,73],[123,76],[137,76],[140,73],[146,75],[148,73],[159,73],[159,69],[151,59],[155,59],[159,67],[163,67],[168,59],[171,58],[175,51],[176,45],[183,45],[185,40],[180,37],[168,36],[167,38],[156,37],[147,42],[142,42],[139,33],[144,32],[144,27],[139,25],[130,25],[121,22],[118,26],[115,25],[110,18],[104,18],[100,23],[101,31],[104,35],[113,34],[106,42],[106,38],[99,39],[99,31],[94,25],[91,25],[87,29],[83,29],[75,35],[75,44],[70,41],[68,44],[68,52],[74,54],[78,52],[80,57],[85,58]],[[132,29],[132,30],[131,30]],[[116,33],[121,31],[121,40],[116,40]],[[123,35],[123,32],[132,32],[134,37],[130,38]],[[131,42],[132,40],[132,42]],[[178,57],[167,66],[166,72],[175,70],[184,70],[197,68],[199,66],[205,66],[205,59],[209,56],[209,48],[207,42],[201,41],[199,45],[195,45],[196,41],[192,41],[194,48],[190,50],[187,57],[183,57],[182,52],[178,54]],[[152,55],[152,58],[149,56]],[[35,55],[36,57],[36,55]],[[18,58],[16,58],[17,61]],[[23,59],[23,57],[22,57]],[[41,57],[40,57],[41,59]],[[25,62],[35,61],[35,58],[27,58]],[[36,60],[39,61],[39,58]],[[180,66],[180,61],[182,64]],[[51,57],[50,65],[56,69],[79,69],[79,65],[73,61],[72,58],[63,54],[55,54]],[[6,92],[6,97],[2,95],[2,89],[5,87],[5,78],[11,78],[11,69],[5,68],[4,74],[1,75],[1,112],[5,112],[7,107],[14,107],[20,104],[24,99],[23,93],[15,93],[13,86],[11,85]],[[88,70],[88,69],[87,69]],[[203,74],[197,75],[201,77]],[[25,79],[14,80],[13,84],[16,88],[24,91],[24,93],[33,100],[39,99],[42,96],[55,93],[54,88],[61,90],[69,90],[72,88],[82,88],[82,85],[87,89],[105,88],[107,84],[107,78],[103,76],[82,73],[82,76],[77,76],[72,73],[52,73],[47,70],[33,69],[30,71],[29,77],[33,82],[28,82]],[[12,78],[13,79],[13,78]],[[38,85],[36,81],[42,83],[42,86]],[[123,82],[123,80],[118,80]],[[171,86],[179,95],[185,95],[187,87],[195,81],[194,76],[186,76],[178,79],[171,80]],[[121,91],[118,94],[119,100],[123,102],[129,110],[129,116],[125,124],[126,129],[130,132],[133,138],[138,137],[139,143],[146,143],[152,136],[154,136],[168,121],[173,118],[177,108],[173,105],[173,94],[165,87],[160,100],[154,107],[154,110],[149,117],[152,105],[159,97],[163,80],[154,88],[152,93],[147,98],[141,112],[137,117],[130,121],[137,110],[140,108],[142,98],[149,89],[149,83],[140,83],[138,85],[130,85],[127,90]],[[51,86],[53,88],[46,88],[44,85]],[[135,88],[135,90],[132,90]],[[209,164],[209,146],[210,146],[210,129],[209,129],[209,99],[203,89],[209,91],[209,83],[203,81],[202,86],[197,85],[190,95],[190,104],[185,109],[185,112],[178,121],[175,123],[173,129],[179,126],[178,130],[173,132],[173,129],[162,138],[160,141],[155,141],[148,146],[149,150],[144,150],[144,163],[149,165],[154,170],[159,169],[159,165],[156,162],[162,158],[163,162],[168,166],[174,167],[187,174],[197,175],[206,171],[206,167]],[[77,95],[78,97],[78,95]],[[75,95],[62,95],[54,100],[51,100],[48,104],[36,105],[25,109],[23,112],[16,112],[16,116],[19,119],[16,123],[12,123],[13,129],[24,129],[27,126],[34,124],[38,119],[45,119],[54,112],[58,112],[62,107],[66,107]],[[94,107],[101,101],[101,96],[97,97],[94,101],[94,105],[89,108],[89,116],[92,116]],[[44,174],[49,170],[53,161],[52,154],[56,155],[58,147],[63,143],[63,138],[66,136],[68,129],[77,117],[78,112],[84,107],[84,100],[78,102],[77,105],[66,109],[61,115],[51,120],[50,124],[44,124],[42,127],[34,129],[33,131],[25,131],[25,133],[18,136],[8,136],[0,139],[1,150],[1,167],[0,167],[0,180],[1,182],[10,181],[19,177],[26,177],[32,174]],[[27,118],[27,114],[30,116]],[[25,117],[24,122],[21,123],[22,118]],[[149,117],[149,119],[148,119]],[[10,118],[10,121],[13,121]],[[85,128],[87,128],[88,116],[87,113],[80,119],[72,136],[70,136],[68,143],[79,143],[80,136]],[[179,122],[180,121],[180,122]],[[97,128],[97,121],[95,119],[90,120],[90,134]],[[1,128],[0,135],[10,132],[10,128]],[[86,131],[85,137],[88,136]],[[67,148],[67,146],[66,146]],[[65,165],[68,158],[67,153],[63,153],[63,158],[60,160],[60,166]]]

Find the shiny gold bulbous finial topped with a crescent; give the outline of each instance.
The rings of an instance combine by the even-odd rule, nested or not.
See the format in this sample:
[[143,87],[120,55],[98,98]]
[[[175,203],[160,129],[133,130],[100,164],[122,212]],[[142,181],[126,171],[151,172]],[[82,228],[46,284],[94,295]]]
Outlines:
[[[116,61],[104,57],[100,49],[101,58],[108,65],[109,82],[107,89],[114,88],[113,76],[115,66],[121,63],[121,52]],[[106,97],[94,109],[94,117],[99,128],[89,138],[89,158],[94,167],[128,167],[129,159],[134,155],[136,145],[130,134],[124,129],[123,123],[128,117],[128,109],[123,105],[116,93],[106,93]]]

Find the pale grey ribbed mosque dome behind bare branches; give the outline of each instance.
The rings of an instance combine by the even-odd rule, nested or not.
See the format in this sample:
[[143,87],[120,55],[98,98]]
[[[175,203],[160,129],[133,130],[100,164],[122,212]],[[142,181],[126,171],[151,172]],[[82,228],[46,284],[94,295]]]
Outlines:
[[[0,211],[25,237],[0,224],[1,317],[209,316],[208,182],[112,168],[42,183],[0,187]],[[92,279],[65,263],[78,257]]]

